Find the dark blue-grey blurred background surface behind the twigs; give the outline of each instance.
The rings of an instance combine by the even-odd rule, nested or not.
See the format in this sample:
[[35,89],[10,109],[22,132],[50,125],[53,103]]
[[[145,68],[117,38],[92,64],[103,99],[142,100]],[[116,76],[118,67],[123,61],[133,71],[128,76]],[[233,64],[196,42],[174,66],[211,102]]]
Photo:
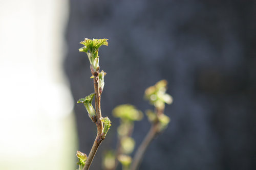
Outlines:
[[[174,98],[166,106],[170,125],[148,148],[140,169],[256,169],[255,1],[70,1],[65,70],[74,101],[93,92],[84,38],[108,38],[100,48],[107,72],[103,116],[113,126],[101,153],[115,148],[119,104],[145,111],[146,87],[161,79]],[[79,150],[89,154],[96,128],[75,105]],[[137,147],[148,131],[135,124]]]

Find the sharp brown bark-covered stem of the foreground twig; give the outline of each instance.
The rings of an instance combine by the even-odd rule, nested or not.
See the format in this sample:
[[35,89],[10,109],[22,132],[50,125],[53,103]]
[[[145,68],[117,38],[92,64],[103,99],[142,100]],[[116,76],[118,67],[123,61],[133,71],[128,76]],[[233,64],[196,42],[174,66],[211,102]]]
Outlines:
[[95,91],[95,110],[97,115],[97,121],[95,122],[97,126],[97,136],[94,140],[92,149],[90,151],[90,154],[86,160],[86,165],[84,165],[83,170],[88,170],[91,166],[91,163],[93,161],[93,158],[99,148],[100,143],[104,139],[102,137],[102,130],[103,130],[103,123],[100,120],[101,118],[101,110],[100,110],[100,92],[99,92],[99,71],[96,71],[93,73],[94,76],[94,91]]

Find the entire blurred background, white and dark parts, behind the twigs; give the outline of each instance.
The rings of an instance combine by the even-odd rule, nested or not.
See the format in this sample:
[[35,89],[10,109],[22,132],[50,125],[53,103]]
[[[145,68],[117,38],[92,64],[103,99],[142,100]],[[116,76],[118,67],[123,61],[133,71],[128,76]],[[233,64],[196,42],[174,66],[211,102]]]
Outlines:
[[[0,169],[75,169],[75,151],[90,152],[96,128],[75,104],[93,92],[78,52],[86,37],[109,39],[101,110],[113,122],[91,169],[115,148],[113,108],[151,109],[143,93],[161,79],[171,122],[140,169],[256,169],[255,1],[11,0],[0,9]],[[135,124],[137,146],[149,127],[146,117]]]

